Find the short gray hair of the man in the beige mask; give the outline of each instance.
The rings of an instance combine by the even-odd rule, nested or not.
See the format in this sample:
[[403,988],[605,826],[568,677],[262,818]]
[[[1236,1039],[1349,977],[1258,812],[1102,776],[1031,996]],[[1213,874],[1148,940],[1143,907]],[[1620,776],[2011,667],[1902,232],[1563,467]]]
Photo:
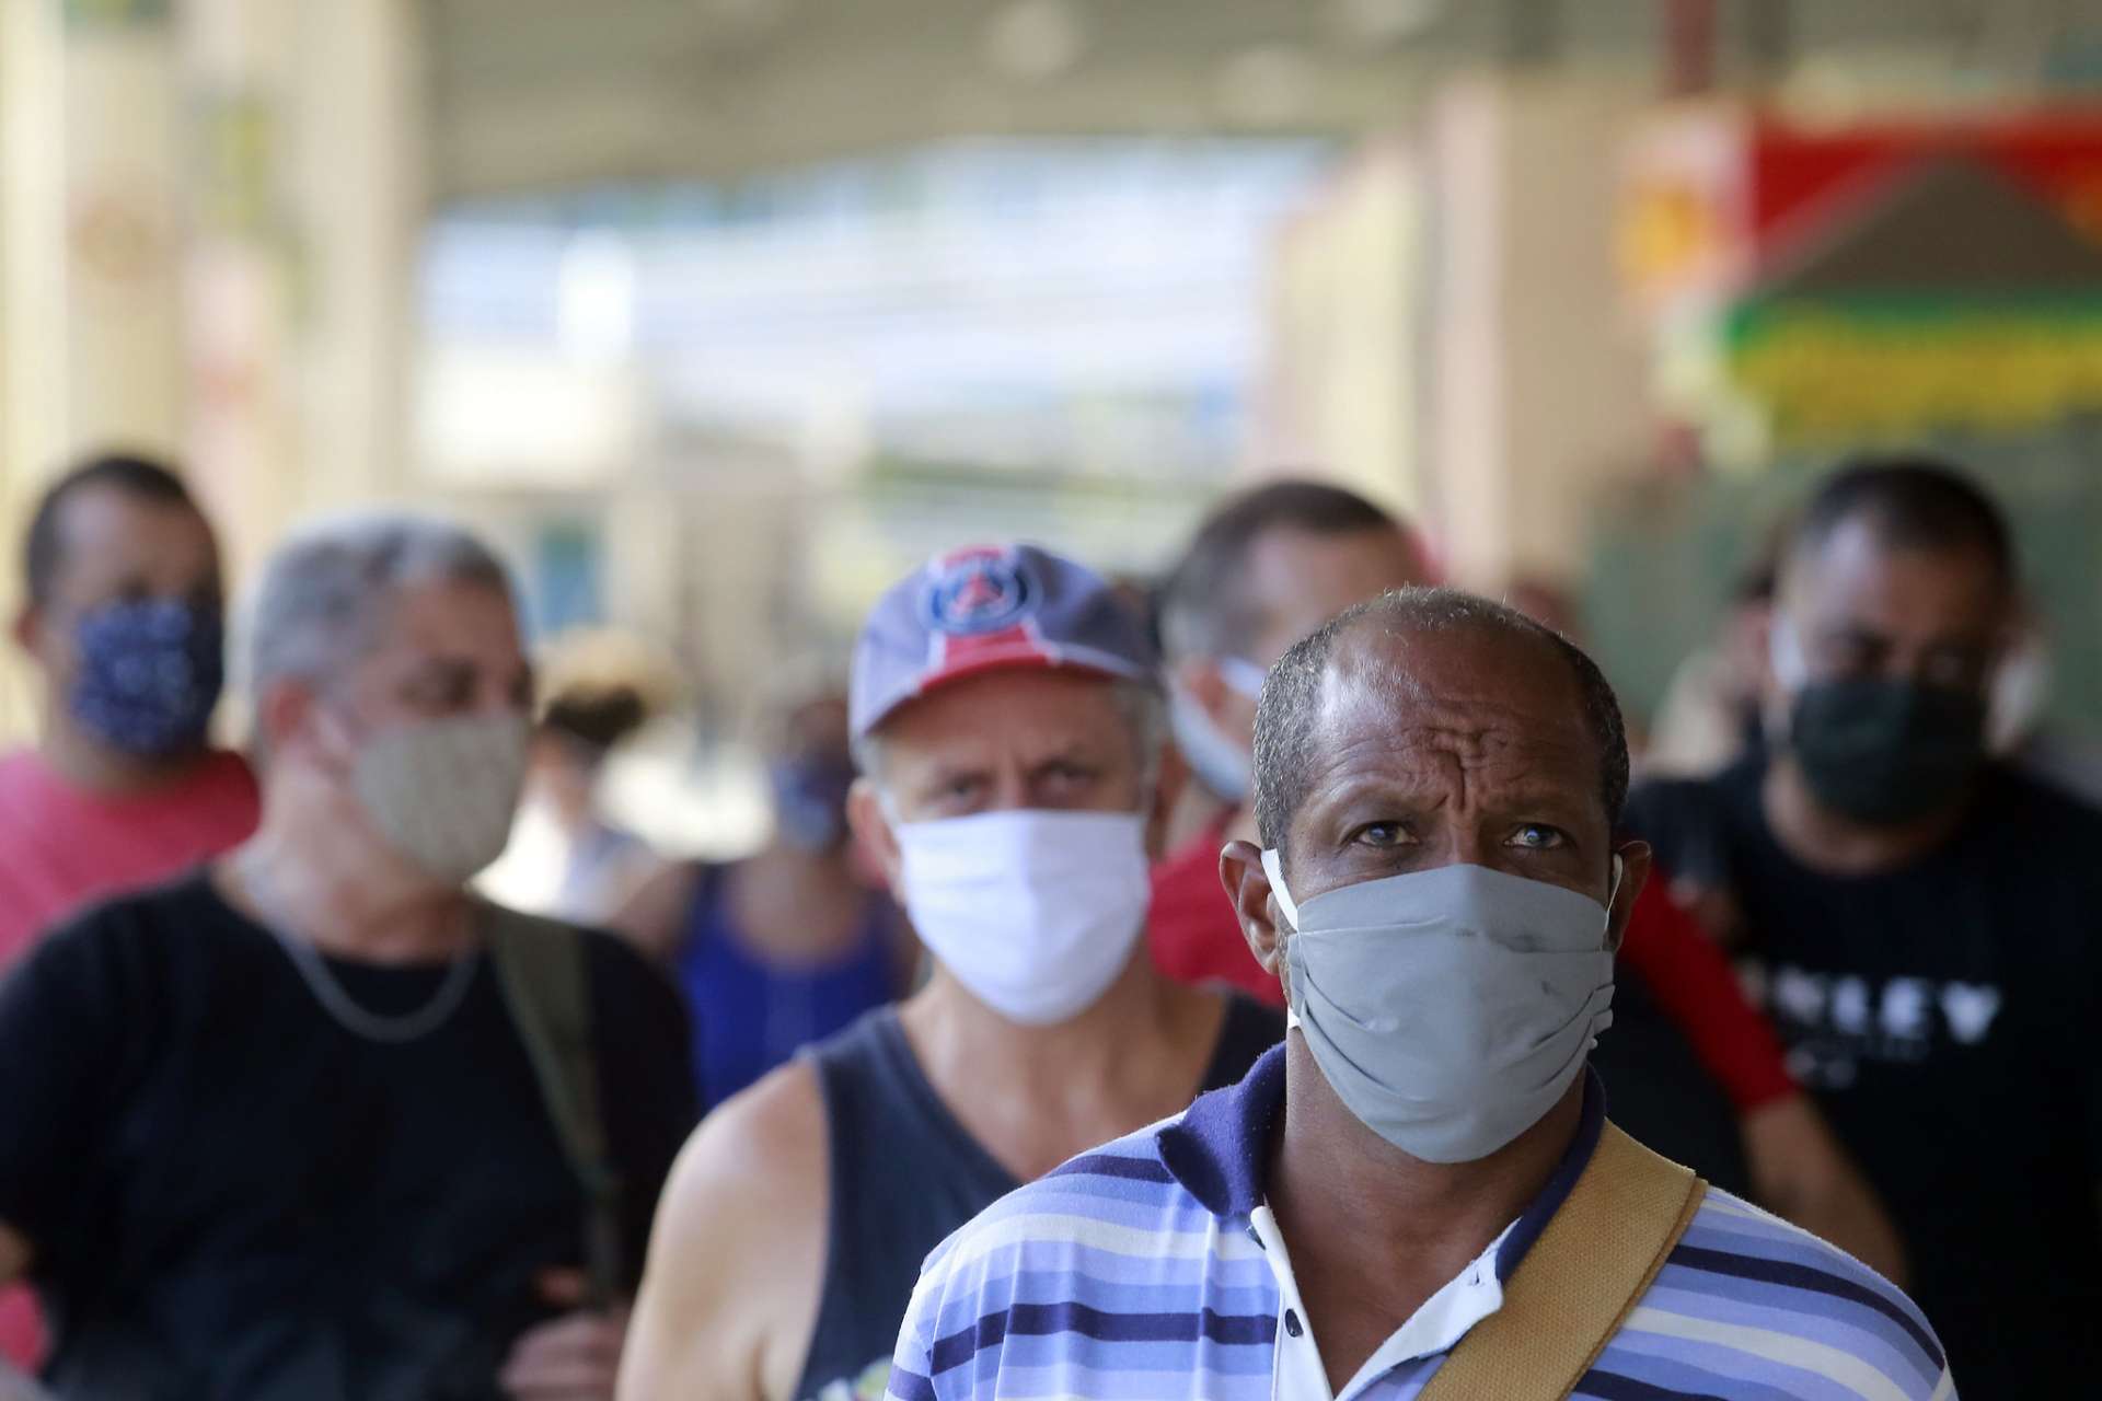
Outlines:
[[330,517],[292,536],[263,567],[250,603],[250,699],[286,678],[341,676],[387,626],[393,594],[414,584],[479,584],[515,597],[496,552],[439,517]]

